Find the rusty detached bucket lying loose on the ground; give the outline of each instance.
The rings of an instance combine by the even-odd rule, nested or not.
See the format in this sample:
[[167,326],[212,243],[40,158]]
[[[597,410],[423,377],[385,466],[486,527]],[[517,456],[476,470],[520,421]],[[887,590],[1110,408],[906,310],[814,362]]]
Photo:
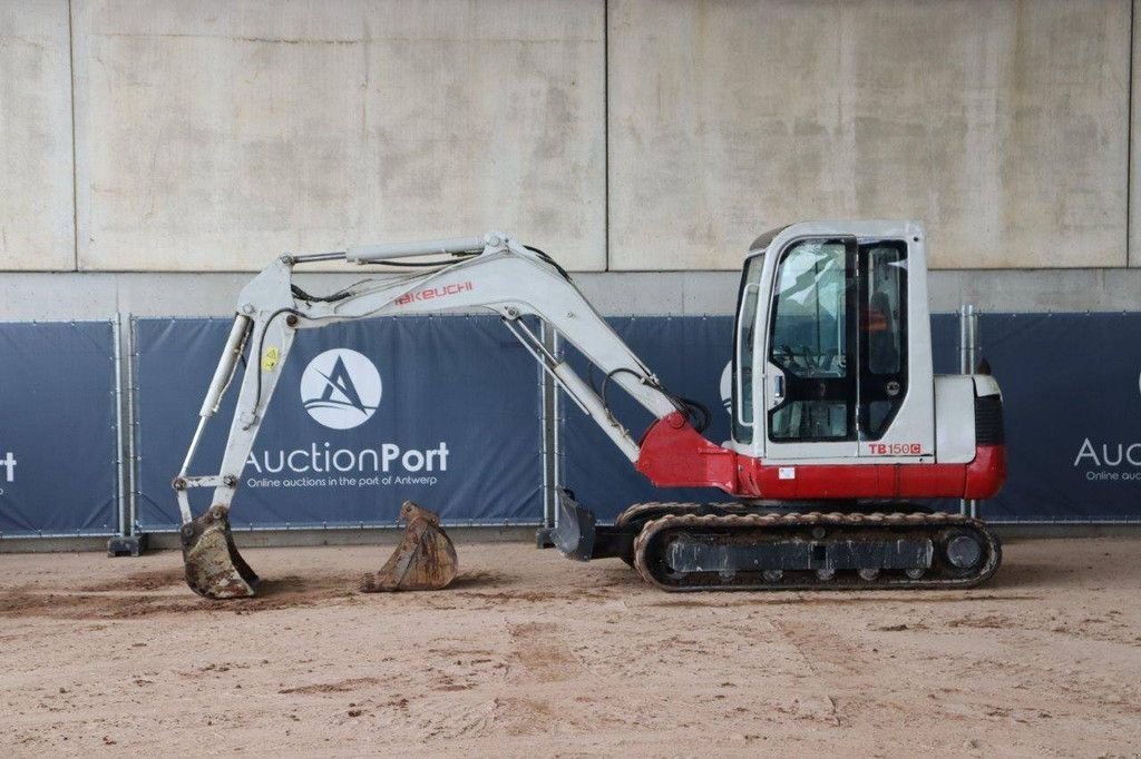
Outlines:
[[439,516],[411,500],[400,506],[407,524],[396,552],[375,574],[366,574],[362,593],[440,590],[455,579],[455,546],[439,525]]

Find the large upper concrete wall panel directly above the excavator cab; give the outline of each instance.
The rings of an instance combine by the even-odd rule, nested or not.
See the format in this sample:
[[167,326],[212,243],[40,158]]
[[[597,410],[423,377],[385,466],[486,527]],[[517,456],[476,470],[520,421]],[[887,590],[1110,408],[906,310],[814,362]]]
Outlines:
[[916,218],[941,268],[1126,259],[1127,0],[609,6],[610,266]]

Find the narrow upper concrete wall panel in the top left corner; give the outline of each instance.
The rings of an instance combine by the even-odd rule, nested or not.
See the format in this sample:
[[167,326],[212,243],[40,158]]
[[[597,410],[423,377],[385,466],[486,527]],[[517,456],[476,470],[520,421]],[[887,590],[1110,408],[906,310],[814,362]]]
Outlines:
[[0,0],[0,270],[75,268],[66,0]]

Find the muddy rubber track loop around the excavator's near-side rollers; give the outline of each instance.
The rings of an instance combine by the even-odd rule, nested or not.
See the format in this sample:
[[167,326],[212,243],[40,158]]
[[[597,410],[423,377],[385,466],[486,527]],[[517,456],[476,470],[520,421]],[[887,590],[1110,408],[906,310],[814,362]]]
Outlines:
[[[644,506],[644,504],[639,504]],[[645,504],[649,506],[649,504]],[[702,506],[702,505],[694,505]],[[628,509],[629,511],[629,509]],[[790,578],[787,574],[780,580],[772,582],[756,581],[759,573],[751,572],[753,581],[737,581],[736,578],[722,579],[715,572],[703,572],[691,583],[674,583],[654,574],[650,568],[648,550],[655,538],[663,536],[670,530],[704,531],[731,530],[736,532],[766,530],[771,528],[930,528],[932,533],[946,528],[962,527],[977,530],[986,539],[985,548],[989,549],[982,561],[981,570],[965,578],[947,577],[923,577],[916,580],[906,576],[882,572],[875,580],[860,579],[855,572],[836,574],[831,580],[816,578],[815,572],[798,572],[798,578]],[[932,536],[933,537],[933,536]],[[997,538],[987,529],[986,524],[979,520],[960,514],[946,514],[936,512],[926,513],[872,513],[872,514],[841,514],[810,512],[806,514],[730,514],[721,516],[698,516],[695,514],[671,514],[652,520],[646,523],[638,538],[634,540],[634,568],[642,579],[653,586],[670,591],[695,591],[695,590],[803,590],[803,589],[903,589],[903,588],[969,588],[989,579],[998,565],[1002,563],[1002,546]],[[717,578],[715,582],[710,582],[710,576]],[[803,576],[803,577],[801,577]],[[811,579],[809,579],[811,578]],[[808,580],[808,581],[806,581]]]

